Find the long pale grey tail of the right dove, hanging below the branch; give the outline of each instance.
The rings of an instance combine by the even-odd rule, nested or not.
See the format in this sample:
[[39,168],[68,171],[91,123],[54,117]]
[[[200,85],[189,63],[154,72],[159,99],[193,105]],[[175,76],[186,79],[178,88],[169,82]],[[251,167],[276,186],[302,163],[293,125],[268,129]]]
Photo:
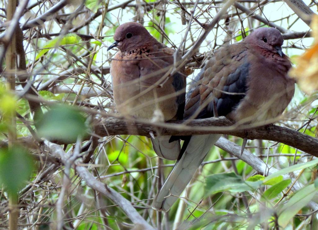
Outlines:
[[183,192],[192,176],[203,162],[211,147],[221,135],[208,134],[192,136],[181,158],[176,162],[152,207],[167,212]]

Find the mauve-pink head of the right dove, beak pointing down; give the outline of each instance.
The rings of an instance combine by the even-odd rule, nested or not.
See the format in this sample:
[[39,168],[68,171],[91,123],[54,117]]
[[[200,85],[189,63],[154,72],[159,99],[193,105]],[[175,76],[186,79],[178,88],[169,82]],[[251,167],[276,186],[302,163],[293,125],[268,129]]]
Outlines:
[[262,48],[281,57],[284,55],[281,49],[284,39],[280,31],[275,28],[262,27],[256,29],[245,40],[245,44],[255,48]]

